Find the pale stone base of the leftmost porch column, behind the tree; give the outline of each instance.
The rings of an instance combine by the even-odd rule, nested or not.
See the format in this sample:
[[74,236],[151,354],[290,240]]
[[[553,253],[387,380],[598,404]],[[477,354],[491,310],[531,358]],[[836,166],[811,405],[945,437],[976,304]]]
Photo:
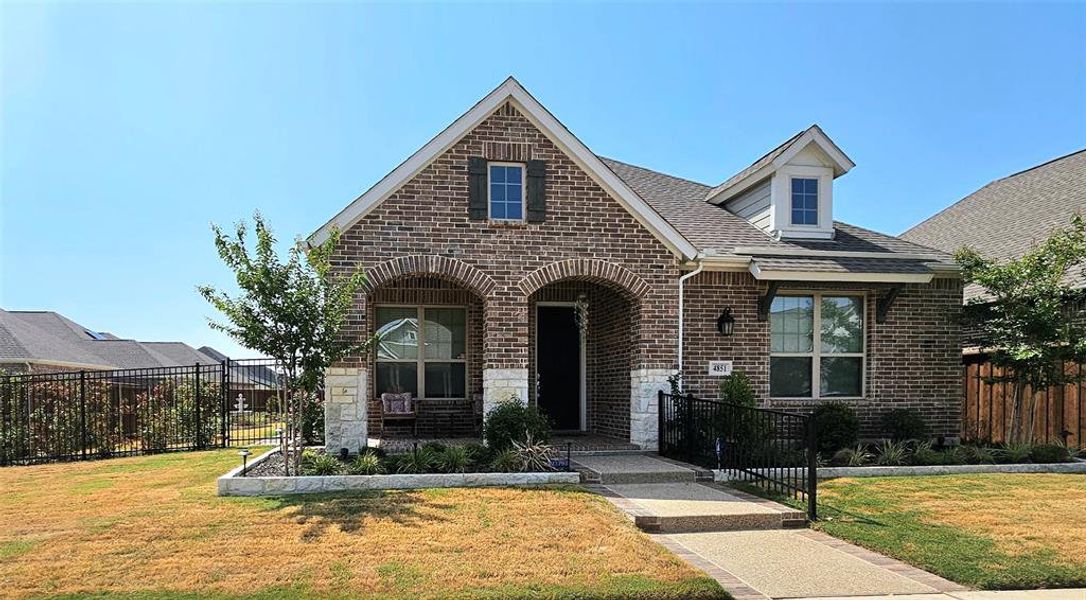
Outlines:
[[333,366],[325,374],[325,449],[356,453],[369,441],[365,367]]

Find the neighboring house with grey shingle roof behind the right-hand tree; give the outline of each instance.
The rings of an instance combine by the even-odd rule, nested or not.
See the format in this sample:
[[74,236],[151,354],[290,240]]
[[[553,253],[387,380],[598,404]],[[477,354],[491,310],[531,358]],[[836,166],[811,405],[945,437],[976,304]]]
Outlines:
[[[1079,150],[997,179],[901,234],[902,239],[954,253],[972,247],[982,255],[1006,261],[1025,254],[1053,229],[1066,227],[1075,213],[1086,215],[1086,150]],[[1086,263],[1071,268],[1066,283],[1086,287]],[[964,301],[984,299],[984,289],[965,286]],[[983,307],[970,313],[983,314]],[[975,327],[962,339],[967,354],[984,340]]]

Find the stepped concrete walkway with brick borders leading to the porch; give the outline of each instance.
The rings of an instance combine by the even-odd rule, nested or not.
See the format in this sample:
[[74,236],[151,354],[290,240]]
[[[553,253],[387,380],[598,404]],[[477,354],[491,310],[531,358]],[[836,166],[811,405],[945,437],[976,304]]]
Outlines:
[[996,600],[944,597],[967,588],[825,534],[796,528],[806,526],[803,512],[707,482],[706,473],[695,466],[644,454],[577,457],[574,463],[585,483],[595,484],[590,489],[736,600],[891,595]]

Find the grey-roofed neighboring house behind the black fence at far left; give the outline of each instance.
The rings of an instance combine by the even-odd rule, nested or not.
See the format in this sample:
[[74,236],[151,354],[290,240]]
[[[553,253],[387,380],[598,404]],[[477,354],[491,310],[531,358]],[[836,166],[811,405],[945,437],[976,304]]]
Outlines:
[[[211,350],[211,352],[207,352]],[[210,348],[136,341],[96,332],[52,311],[0,309],[0,372],[51,373],[218,364]]]

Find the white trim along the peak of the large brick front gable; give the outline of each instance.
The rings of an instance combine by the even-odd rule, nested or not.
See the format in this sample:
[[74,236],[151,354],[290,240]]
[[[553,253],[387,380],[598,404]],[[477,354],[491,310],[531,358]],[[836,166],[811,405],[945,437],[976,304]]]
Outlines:
[[406,182],[417,175],[434,159],[452,148],[457,141],[489,117],[506,102],[512,102],[532,125],[561,149],[596,184],[604,188],[613,198],[619,201],[642,225],[657,239],[681,258],[694,258],[697,249],[684,238],[674,226],[660,216],[640,196],[619,178],[599,160],[584,143],[581,142],[550,111],[533,98],[519,82],[513,77],[487,95],[466,113],[454,121],[443,132],[412,154],[400,166],[377,182],[362,196],[348,204],[345,209],[320,226],[310,237],[311,243],[320,243],[328,239],[333,228],[348,229],[375,207],[394,193]]

